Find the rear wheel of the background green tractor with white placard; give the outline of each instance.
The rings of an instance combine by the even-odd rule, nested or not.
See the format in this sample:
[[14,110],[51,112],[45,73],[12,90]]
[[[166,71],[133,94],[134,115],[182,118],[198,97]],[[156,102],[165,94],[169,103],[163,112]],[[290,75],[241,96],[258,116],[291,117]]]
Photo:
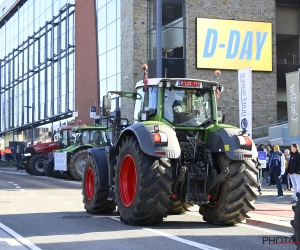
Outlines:
[[83,176],[84,163],[88,153],[86,149],[75,152],[70,159],[68,170],[74,180],[81,181]]

